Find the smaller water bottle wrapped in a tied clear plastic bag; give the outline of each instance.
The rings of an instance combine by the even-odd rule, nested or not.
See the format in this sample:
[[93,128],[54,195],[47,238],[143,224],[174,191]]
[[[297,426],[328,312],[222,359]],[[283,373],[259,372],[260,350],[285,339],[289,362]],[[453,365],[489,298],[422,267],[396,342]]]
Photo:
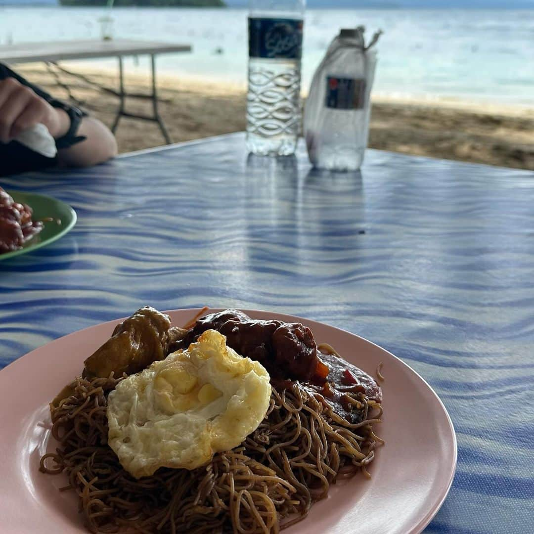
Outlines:
[[364,159],[376,67],[374,44],[365,46],[363,27],[342,29],[329,46],[311,83],[304,111],[304,136],[314,167],[358,170]]

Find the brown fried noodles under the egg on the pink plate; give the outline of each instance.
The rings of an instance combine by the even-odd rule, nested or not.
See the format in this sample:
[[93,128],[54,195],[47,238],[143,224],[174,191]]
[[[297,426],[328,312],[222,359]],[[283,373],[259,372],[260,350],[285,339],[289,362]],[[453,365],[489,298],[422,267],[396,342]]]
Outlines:
[[[123,377],[124,378],[124,377]],[[65,472],[92,532],[278,532],[300,521],[338,478],[362,471],[382,440],[380,404],[355,394],[363,421],[351,424],[295,383],[272,389],[269,410],[240,446],[194,469],[161,468],[136,480],[107,445],[107,395],[122,380],[77,378],[51,406],[55,453],[44,473]]]

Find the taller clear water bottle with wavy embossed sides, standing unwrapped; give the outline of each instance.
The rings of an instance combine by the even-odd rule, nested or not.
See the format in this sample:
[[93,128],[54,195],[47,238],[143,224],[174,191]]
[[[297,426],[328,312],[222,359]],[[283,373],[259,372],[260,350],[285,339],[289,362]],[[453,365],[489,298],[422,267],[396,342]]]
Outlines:
[[250,0],[247,148],[253,154],[295,152],[304,6],[305,0]]

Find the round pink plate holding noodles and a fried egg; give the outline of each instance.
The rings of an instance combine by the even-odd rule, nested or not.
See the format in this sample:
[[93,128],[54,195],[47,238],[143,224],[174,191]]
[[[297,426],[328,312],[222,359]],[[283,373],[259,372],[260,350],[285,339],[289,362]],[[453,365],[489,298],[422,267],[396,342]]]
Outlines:
[[[169,312],[183,325],[198,310]],[[349,362],[375,376],[383,362],[386,440],[370,467],[371,480],[355,477],[334,486],[307,519],[287,532],[407,534],[421,532],[442,505],[456,468],[456,436],[449,414],[430,386],[401,360],[374,343],[315,321],[280,313],[246,311],[257,319],[299,321],[318,343],[333,345]],[[60,493],[64,475],[44,475],[39,459],[54,449],[48,403],[79,374],[83,360],[111,335],[111,321],[61,337],[0,372],[0,517],[4,532],[87,532],[73,492]]]

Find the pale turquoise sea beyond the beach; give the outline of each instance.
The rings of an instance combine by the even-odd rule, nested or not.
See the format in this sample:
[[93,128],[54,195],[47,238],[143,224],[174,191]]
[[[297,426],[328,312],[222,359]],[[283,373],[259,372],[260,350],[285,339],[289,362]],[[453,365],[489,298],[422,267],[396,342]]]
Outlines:
[[[104,7],[0,7],[0,45],[100,38],[105,14]],[[162,56],[163,71],[245,83],[245,10],[121,8],[112,17],[116,37],[193,45],[192,54]],[[308,10],[305,88],[334,35],[357,25],[370,35],[384,30],[376,92],[534,104],[534,10]],[[142,72],[147,61],[127,67]]]

